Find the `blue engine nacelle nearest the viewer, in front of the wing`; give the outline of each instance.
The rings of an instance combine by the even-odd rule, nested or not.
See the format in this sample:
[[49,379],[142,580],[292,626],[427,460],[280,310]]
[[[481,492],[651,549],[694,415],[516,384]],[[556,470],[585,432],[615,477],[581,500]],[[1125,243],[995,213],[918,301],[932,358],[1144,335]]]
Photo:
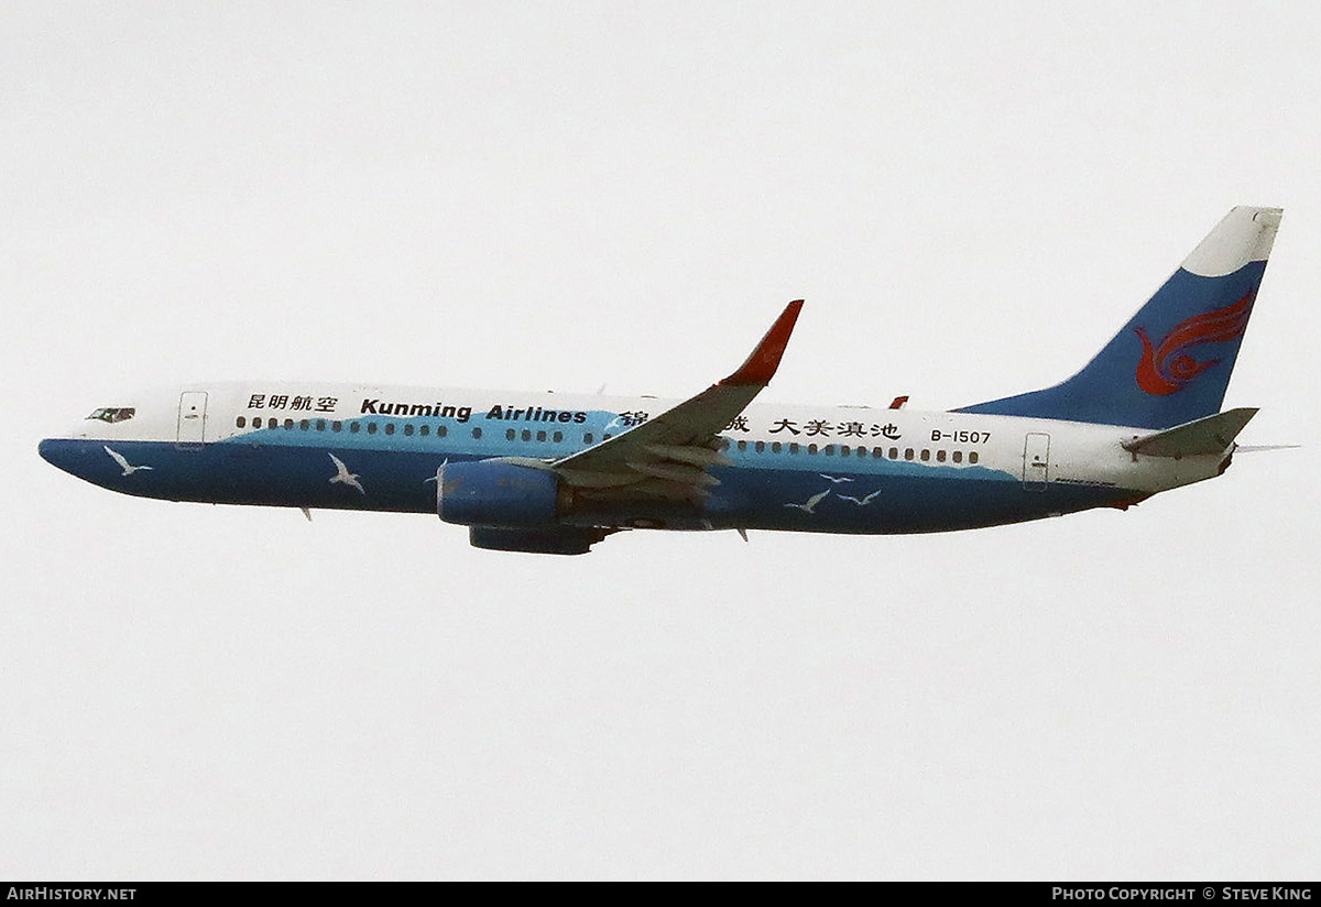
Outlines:
[[555,525],[560,483],[550,470],[491,459],[446,463],[436,473],[436,514],[446,523]]

